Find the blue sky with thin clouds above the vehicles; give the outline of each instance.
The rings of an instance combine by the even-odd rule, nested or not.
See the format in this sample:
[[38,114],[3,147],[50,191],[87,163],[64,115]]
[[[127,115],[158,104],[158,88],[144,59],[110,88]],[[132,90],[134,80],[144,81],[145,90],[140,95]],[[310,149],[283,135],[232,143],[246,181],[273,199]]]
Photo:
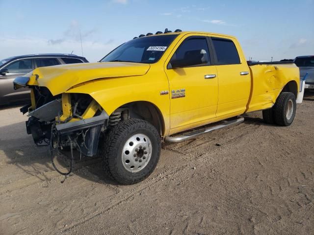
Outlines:
[[0,59],[73,51],[96,62],[165,28],[233,35],[247,59],[314,55],[314,0],[0,0]]

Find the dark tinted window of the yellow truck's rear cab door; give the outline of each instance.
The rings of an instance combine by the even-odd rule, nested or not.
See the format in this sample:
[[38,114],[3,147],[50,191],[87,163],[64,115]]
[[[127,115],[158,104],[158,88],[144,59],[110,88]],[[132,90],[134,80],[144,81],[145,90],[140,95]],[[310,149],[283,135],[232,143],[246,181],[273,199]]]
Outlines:
[[235,44],[229,39],[211,38],[216,51],[218,65],[240,64]]

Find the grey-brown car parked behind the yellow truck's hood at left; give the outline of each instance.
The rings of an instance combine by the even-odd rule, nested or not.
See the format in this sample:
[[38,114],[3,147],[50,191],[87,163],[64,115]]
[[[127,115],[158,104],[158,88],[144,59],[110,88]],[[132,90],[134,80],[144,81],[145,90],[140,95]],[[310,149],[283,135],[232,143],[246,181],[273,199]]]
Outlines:
[[13,89],[13,80],[18,76],[39,67],[87,62],[86,58],[73,54],[32,54],[0,60],[0,105],[30,99],[29,89]]

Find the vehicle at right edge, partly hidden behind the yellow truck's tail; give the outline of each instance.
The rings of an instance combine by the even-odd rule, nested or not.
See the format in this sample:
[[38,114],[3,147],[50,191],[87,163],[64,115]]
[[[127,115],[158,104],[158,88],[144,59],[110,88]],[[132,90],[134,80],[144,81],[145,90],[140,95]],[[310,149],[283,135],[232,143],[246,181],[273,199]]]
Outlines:
[[300,79],[308,73],[305,80],[305,88],[314,89],[314,55],[298,56],[293,62],[299,67]]

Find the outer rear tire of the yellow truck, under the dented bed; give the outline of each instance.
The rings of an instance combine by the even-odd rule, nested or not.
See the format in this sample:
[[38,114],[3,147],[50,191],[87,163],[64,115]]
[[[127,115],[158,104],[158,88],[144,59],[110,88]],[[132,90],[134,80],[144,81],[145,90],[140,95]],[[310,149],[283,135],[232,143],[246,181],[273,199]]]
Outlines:
[[[288,111],[292,105],[292,113],[288,115]],[[290,107],[290,108],[289,108]],[[274,118],[277,125],[289,126],[293,122],[296,112],[295,96],[291,92],[282,92],[273,107]],[[287,117],[287,115],[289,117]]]

